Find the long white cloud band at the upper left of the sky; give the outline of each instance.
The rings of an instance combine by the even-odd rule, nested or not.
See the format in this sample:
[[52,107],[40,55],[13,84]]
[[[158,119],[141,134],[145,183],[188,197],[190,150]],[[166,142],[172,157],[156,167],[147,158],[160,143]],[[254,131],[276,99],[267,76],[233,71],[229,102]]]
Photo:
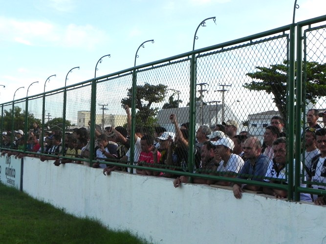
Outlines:
[[0,41],[14,41],[31,46],[83,47],[92,49],[108,41],[108,35],[90,25],[56,25],[37,20],[16,20],[0,17]]

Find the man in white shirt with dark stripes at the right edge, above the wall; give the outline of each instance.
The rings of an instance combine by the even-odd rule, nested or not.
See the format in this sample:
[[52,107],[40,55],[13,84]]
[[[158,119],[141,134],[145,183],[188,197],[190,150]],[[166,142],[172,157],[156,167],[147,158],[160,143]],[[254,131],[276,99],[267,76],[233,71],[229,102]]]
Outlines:
[[[326,129],[316,131],[317,147],[320,154],[311,161],[311,187],[314,189],[326,190]],[[317,205],[326,205],[326,195],[312,195],[313,202]]]

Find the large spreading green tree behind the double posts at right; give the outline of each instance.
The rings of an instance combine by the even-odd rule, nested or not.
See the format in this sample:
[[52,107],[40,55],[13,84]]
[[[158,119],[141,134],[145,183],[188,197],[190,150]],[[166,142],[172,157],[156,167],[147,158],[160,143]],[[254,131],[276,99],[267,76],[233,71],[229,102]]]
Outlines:
[[[273,102],[279,109],[281,116],[287,119],[286,113],[286,86],[288,79],[287,61],[283,64],[272,64],[270,67],[256,67],[259,71],[246,74],[254,79],[245,83],[243,87],[249,90],[265,91],[273,94]],[[326,96],[326,63],[306,62],[303,70],[306,70],[305,102],[316,103],[316,100]]]

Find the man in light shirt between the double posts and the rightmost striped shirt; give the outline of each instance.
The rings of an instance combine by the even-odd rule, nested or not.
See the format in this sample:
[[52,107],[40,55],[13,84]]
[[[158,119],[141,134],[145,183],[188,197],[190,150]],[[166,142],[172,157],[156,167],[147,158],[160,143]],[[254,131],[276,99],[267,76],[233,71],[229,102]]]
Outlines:
[[[304,169],[305,169],[305,178],[307,181],[311,181],[311,161],[312,159],[320,154],[320,150],[317,148],[317,137],[315,133],[316,129],[309,128],[305,131],[304,136],[304,145],[305,145],[305,151],[304,151]],[[302,159],[303,160],[303,159]]]

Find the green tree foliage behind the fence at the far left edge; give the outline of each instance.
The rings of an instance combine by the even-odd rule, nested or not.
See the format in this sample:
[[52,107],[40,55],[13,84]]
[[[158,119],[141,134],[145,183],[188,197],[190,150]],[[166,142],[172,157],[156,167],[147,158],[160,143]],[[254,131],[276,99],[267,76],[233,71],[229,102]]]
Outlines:
[[[3,130],[4,131],[11,131],[12,129],[12,109],[4,110],[3,111]],[[24,130],[25,128],[25,111],[22,111],[20,107],[14,107],[14,130]],[[41,123],[41,120],[34,118],[34,114],[27,113],[27,121],[28,126],[27,128],[33,128],[33,123],[37,122],[38,124]],[[0,118],[0,123],[2,123]]]

